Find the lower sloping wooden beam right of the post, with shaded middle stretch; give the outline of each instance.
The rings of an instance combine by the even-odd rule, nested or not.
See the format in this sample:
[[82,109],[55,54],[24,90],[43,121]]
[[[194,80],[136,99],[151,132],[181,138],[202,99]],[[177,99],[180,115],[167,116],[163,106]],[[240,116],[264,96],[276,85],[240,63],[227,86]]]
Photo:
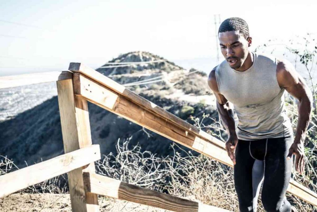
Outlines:
[[179,212],[228,211],[131,185],[100,174],[84,173],[83,175],[86,191],[99,195]]

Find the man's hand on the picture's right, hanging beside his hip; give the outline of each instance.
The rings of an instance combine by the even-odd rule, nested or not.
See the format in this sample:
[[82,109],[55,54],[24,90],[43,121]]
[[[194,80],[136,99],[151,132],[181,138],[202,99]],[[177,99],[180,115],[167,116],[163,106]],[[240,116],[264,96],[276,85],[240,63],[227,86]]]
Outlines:
[[292,146],[289,148],[287,159],[290,160],[293,154],[295,155],[295,170],[298,171],[300,174],[304,174],[305,154],[303,142],[294,141]]

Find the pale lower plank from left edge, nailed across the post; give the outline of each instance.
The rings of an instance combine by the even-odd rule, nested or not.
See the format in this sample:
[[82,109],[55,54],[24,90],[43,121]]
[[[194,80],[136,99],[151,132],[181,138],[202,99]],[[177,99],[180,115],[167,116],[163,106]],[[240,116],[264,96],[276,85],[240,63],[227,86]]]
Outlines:
[[[83,157],[87,155],[87,157]],[[0,197],[100,160],[99,145],[85,147],[0,176]]]

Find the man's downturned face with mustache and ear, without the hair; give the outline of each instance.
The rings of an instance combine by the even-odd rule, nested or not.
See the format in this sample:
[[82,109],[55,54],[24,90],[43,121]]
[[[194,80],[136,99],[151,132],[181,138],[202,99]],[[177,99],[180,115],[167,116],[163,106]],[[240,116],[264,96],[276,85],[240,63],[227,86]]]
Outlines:
[[218,34],[221,53],[233,69],[239,69],[248,56],[251,38],[245,39],[239,31],[220,32]]

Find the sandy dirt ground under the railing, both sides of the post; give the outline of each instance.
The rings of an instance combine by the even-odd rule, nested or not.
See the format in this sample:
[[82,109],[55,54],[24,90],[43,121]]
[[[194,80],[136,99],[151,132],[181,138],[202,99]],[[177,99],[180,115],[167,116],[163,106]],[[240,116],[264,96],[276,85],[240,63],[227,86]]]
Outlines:
[[[169,212],[168,210],[157,209],[154,207],[137,203],[99,197],[100,211],[112,212]],[[69,194],[12,194],[0,198],[1,212],[20,212],[20,211],[71,211]]]

